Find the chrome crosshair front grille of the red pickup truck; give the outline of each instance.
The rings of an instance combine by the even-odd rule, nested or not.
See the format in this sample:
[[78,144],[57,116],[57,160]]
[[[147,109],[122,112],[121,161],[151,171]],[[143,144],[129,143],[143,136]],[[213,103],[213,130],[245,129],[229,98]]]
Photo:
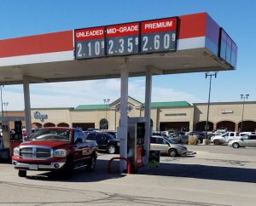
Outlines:
[[20,148],[21,158],[49,158],[51,157],[51,150],[47,147],[21,147]]

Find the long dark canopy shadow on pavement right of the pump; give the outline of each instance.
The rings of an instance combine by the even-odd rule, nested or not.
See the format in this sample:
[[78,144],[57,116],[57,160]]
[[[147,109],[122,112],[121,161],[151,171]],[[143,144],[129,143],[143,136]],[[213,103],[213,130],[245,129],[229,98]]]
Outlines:
[[160,163],[159,168],[142,168],[138,170],[137,174],[256,183],[256,169],[218,167],[200,164]]

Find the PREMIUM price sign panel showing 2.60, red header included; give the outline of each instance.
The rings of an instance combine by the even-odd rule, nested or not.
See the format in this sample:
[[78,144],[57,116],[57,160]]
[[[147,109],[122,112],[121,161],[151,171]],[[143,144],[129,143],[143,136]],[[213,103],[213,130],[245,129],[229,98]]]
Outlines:
[[143,21],[140,42],[143,54],[176,50],[177,18]]

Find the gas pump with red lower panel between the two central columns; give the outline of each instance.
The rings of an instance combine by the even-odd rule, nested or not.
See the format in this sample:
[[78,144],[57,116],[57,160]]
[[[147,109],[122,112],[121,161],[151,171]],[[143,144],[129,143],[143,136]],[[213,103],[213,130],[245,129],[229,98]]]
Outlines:
[[131,162],[131,172],[143,167],[145,121],[143,117],[128,118],[127,157]]

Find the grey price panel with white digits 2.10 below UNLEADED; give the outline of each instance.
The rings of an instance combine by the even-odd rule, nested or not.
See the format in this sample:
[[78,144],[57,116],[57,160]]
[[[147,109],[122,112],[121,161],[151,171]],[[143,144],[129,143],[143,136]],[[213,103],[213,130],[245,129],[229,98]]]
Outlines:
[[104,56],[105,43],[102,40],[84,41],[76,44],[77,58]]

